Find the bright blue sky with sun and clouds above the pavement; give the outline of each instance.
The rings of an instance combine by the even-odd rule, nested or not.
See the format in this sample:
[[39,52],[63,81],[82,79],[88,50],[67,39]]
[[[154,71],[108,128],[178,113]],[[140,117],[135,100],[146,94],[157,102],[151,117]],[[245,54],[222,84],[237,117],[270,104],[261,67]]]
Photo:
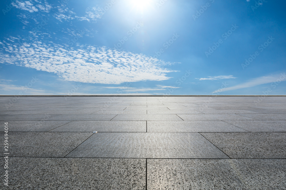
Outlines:
[[286,94],[285,1],[1,1],[1,95]]

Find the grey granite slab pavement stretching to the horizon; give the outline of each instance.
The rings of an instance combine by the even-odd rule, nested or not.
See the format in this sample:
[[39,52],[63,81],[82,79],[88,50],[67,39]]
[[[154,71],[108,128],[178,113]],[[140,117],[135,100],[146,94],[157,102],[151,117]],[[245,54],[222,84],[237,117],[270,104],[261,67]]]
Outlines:
[[286,97],[258,99],[0,97],[0,189],[286,189]]

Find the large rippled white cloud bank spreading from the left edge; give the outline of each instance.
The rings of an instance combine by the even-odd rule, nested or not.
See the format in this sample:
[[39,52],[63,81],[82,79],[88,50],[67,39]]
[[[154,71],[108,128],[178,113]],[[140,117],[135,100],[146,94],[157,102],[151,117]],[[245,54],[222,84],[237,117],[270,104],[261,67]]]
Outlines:
[[55,73],[67,81],[102,84],[162,81],[171,78],[167,73],[176,72],[164,68],[175,63],[106,47],[65,49],[62,45],[42,42],[24,43],[23,46],[3,43],[0,63]]

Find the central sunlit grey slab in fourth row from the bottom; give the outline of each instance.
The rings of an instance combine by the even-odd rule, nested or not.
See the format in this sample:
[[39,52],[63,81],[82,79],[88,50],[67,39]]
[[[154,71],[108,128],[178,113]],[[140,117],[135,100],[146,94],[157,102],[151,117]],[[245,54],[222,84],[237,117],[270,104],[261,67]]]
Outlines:
[[156,121],[156,120],[182,120],[175,114],[134,114],[134,115],[116,115],[112,121]]

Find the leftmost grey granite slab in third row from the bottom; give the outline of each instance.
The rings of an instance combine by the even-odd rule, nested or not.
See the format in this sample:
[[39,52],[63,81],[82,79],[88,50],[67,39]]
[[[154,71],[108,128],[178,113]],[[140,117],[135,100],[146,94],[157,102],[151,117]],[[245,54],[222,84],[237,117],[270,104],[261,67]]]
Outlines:
[[[10,132],[47,132],[71,121],[0,121],[8,122]],[[81,131],[80,131],[81,132]]]

